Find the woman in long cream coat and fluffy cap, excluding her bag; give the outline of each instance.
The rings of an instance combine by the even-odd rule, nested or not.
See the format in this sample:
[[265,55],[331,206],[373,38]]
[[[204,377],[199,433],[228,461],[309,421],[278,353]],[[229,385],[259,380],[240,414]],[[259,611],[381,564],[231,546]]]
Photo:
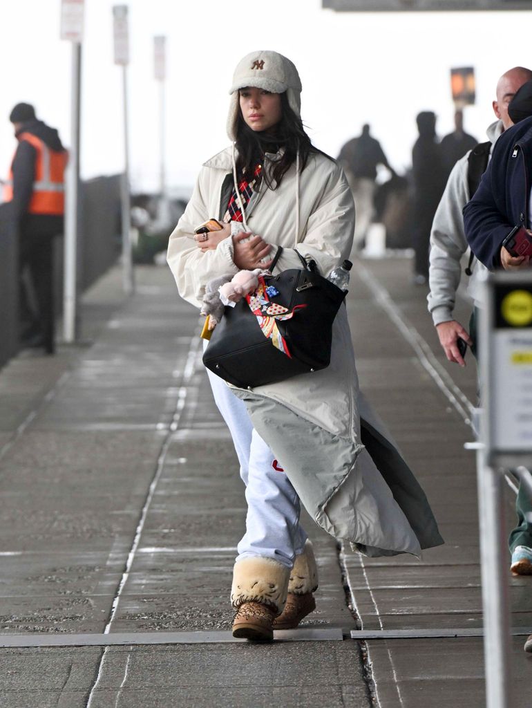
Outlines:
[[[278,246],[274,273],[300,268],[303,256],[325,276],[352,246],[351,190],[303,130],[294,64],[277,52],[253,52],[236,67],[230,93],[232,147],[204,163],[168,246],[180,295],[197,306],[207,282],[270,267]],[[224,227],[195,236],[212,217]],[[364,423],[361,438],[364,401],[345,307],[325,370],[253,392],[208,373],[248,503],[233,570],[234,636],[272,639],[273,629],[296,627],[315,607],[318,573],[299,523],[300,498],[325,530],[367,554],[418,554],[441,543],[422,491],[380,423]]]

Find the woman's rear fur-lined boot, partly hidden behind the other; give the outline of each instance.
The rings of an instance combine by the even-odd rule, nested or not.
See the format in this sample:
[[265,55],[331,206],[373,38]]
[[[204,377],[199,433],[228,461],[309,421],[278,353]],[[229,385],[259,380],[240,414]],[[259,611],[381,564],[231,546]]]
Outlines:
[[301,619],[316,610],[313,592],[318,588],[318,568],[311,542],[296,556],[288,583],[287,603],[282,615],[274,619],[274,629],[295,629]]

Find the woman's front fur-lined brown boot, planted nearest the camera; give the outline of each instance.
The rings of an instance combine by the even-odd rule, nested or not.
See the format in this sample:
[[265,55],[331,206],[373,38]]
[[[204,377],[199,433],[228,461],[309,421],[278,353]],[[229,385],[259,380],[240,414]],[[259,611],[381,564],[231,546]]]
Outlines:
[[273,639],[273,623],[287,601],[290,571],[261,556],[244,558],[233,569],[231,603],[236,610],[233,636],[255,641]]

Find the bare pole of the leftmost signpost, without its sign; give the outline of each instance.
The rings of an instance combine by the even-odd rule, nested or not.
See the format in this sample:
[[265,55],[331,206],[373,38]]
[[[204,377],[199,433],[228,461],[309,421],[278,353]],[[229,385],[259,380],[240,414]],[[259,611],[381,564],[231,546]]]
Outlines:
[[79,115],[81,99],[81,44],[72,42],[71,149],[66,175],[64,212],[63,336],[74,343],[77,321],[77,241],[79,188]]

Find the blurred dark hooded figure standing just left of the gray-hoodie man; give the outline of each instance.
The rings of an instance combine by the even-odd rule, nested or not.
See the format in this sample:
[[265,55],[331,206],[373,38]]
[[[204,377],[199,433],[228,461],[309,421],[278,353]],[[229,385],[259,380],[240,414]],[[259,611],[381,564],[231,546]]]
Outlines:
[[432,219],[444,192],[446,174],[441,144],[436,138],[436,115],[424,110],[416,118],[420,135],[412,148],[412,241],[415,251],[413,282],[429,278],[429,241]]

